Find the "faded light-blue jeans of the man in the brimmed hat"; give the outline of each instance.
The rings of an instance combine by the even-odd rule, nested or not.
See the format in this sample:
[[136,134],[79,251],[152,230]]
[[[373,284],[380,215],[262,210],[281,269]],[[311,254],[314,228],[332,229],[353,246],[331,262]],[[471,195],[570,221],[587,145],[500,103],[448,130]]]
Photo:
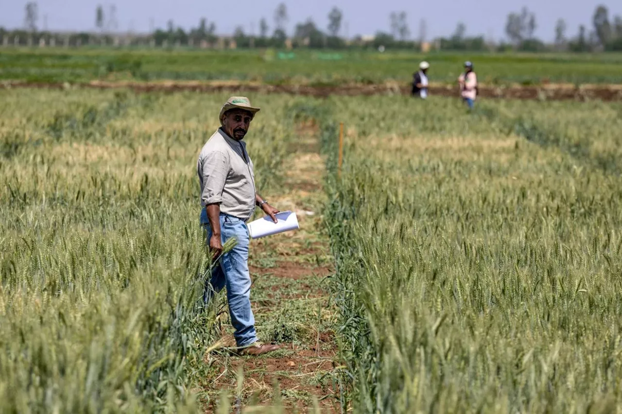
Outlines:
[[[207,243],[210,243],[211,228],[207,219],[207,211],[203,208],[201,224],[208,230]],[[249,235],[246,223],[243,220],[220,214],[221,242],[235,237],[236,246],[229,252],[221,255],[218,264],[211,271],[210,282],[205,283],[203,298],[208,303],[218,292],[227,288],[227,301],[231,324],[235,328],[236,343],[238,346],[248,346],[256,342],[255,317],[251,310],[251,275],[248,272],[248,245]]]

